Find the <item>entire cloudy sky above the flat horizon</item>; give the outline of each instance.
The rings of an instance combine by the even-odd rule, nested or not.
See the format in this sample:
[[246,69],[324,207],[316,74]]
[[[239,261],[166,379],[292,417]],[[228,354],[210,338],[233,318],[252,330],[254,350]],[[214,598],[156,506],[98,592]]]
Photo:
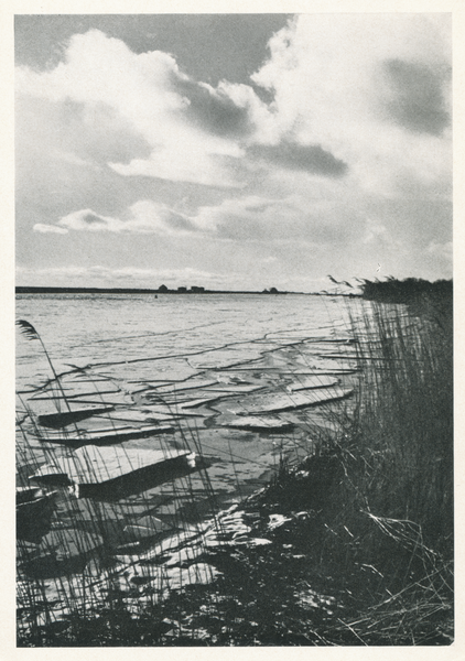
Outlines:
[[452,275],[448,14],[15,19],[17,284]]

